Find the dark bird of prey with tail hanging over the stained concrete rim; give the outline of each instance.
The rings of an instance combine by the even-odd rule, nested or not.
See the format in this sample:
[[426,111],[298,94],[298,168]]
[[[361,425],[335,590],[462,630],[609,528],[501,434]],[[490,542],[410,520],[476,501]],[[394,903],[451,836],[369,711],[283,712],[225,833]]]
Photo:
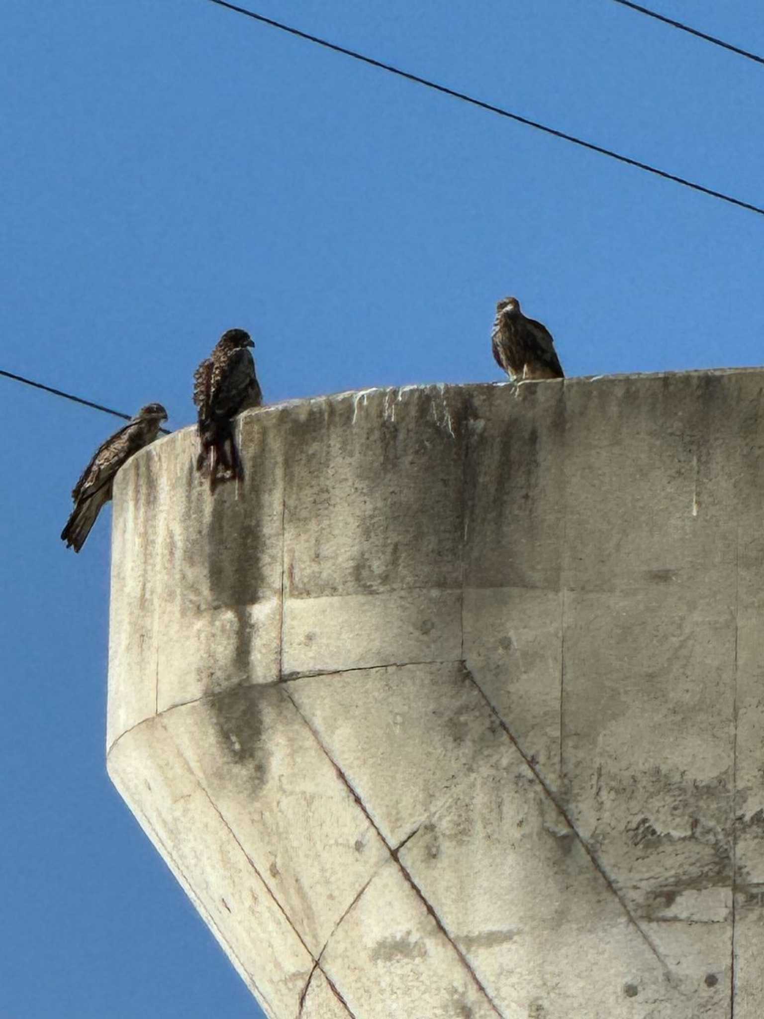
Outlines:
[[239,411],[263,403],[252,346],[255,344],[249,332],[228,329],[194,375],[194,403],[199,409],[202,443],[197,470],[209,471],[211,491],[219,481],[243,477],[231,419]]

